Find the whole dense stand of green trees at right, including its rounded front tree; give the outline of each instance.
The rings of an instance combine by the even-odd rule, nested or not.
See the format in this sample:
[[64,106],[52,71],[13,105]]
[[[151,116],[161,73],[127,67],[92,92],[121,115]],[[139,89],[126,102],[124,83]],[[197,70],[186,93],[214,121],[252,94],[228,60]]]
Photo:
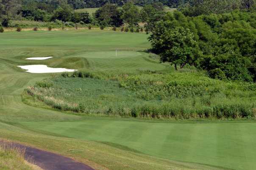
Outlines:
[[[192,7],[209,9],[211,2]],[[147,24],[152,50],[161,56],[161,61],[171,63],[176,70],[178,66],[195,66],[212,78],[256,81],[254,1],[236,1],[225,10],[222,5],[215,6],[210,13],[187,13],[186,8],[164,14],[161,19],[150,18]]]

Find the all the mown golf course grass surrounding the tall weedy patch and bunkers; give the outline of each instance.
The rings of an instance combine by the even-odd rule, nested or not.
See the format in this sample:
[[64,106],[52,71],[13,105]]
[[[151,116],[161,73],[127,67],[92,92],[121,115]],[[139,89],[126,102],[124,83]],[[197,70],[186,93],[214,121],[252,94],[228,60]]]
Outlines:
[[[251,121],[156,121],[105,118],[24,104],[29,85],[56,74],[30,74],[17,65],[68,69],[159,71],[143,33],[58,31],[0,34],[0,138],[70,156],[97,169],[237,169],[256,166]],[[120,58],[114,58],[118,49]],[[104,54],[109,58],[104,58]],[[88,55],[89,57],[86,57]],[[24,60],[47,57],[44,61]],[[41,108],[42,107],[42,108]]]

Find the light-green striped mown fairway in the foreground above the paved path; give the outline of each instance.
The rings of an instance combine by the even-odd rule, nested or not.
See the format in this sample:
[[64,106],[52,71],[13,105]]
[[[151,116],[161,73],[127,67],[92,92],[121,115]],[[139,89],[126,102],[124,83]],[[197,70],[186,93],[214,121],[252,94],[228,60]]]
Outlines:
[[86,120],[22,122],[22,125],[72,138],[117,143],[166,159],[240,170],[255,167],[255,123]]

